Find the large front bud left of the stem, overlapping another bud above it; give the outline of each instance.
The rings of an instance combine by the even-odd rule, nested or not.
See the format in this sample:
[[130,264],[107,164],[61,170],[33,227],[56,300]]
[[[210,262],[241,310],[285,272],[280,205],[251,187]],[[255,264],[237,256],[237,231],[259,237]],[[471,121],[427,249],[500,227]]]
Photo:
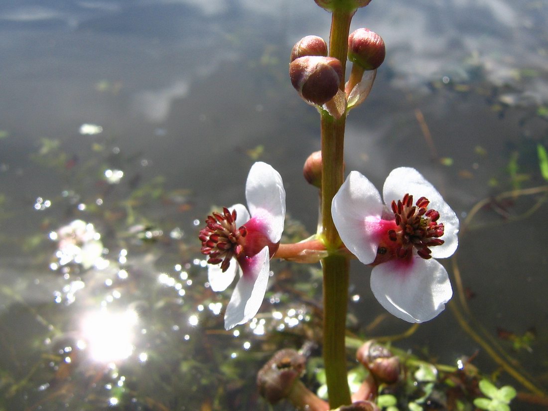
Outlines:
[[303,99],[322,105],[337,94],[343,66],[334,57],[304,56],[289,64],[289,78]]

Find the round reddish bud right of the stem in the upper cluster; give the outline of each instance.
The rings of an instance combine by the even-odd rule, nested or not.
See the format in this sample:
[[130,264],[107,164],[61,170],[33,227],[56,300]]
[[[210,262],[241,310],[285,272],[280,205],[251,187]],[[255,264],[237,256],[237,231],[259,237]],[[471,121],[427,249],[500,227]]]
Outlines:
[[348,37],[348,59],[364,70],[383,64],[386,48],[383,38],[368,28],[358,28]]

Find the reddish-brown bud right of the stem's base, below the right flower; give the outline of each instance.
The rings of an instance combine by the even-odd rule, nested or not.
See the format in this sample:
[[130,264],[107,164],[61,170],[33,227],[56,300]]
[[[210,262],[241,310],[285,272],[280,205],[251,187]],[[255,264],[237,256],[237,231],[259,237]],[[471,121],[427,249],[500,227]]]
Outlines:
[[374,340],[367,341],[359,347],[356,358],[376,380],[392,384],[399,377],[399,358],[392,355],[390,350],[379,345]]

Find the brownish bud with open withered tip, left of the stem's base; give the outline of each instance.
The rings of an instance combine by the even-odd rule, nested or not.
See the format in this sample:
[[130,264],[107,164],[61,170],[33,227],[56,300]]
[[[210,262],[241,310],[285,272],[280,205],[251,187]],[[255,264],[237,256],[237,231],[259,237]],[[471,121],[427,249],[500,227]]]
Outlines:
[[306,359],[292,349],[279,350],[257,374],[261,396],[271,404],[286,398],[305,369]]

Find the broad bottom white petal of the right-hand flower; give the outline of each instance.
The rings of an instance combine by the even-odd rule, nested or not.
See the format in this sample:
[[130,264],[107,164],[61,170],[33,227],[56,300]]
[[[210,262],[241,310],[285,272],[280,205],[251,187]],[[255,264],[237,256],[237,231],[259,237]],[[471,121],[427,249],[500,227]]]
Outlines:
[[410,264],[389,261],[374,267],[371,289],[387,311],[411,323],[436,317],[453,295],[446,269],[416,255]]

